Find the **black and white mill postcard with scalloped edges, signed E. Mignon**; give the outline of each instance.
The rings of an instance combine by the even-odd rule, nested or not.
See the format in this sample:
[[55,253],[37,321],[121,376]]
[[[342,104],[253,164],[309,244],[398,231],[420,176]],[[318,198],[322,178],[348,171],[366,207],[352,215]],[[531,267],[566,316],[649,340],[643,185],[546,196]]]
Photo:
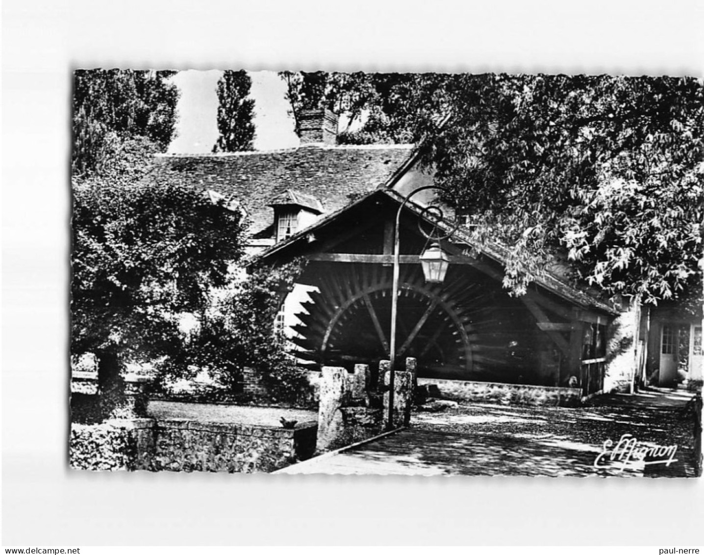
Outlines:
[[703,99],[75,70],[70,465],[698,477]]

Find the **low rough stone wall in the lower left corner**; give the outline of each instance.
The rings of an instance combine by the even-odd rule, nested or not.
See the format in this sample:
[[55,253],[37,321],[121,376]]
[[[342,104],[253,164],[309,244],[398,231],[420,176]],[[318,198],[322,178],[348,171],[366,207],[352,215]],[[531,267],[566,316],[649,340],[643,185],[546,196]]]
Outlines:
[[193,420],[109,420],[71,428],[70,466],[85,470],[272,472],[313,456],[316,423],[293,429]]

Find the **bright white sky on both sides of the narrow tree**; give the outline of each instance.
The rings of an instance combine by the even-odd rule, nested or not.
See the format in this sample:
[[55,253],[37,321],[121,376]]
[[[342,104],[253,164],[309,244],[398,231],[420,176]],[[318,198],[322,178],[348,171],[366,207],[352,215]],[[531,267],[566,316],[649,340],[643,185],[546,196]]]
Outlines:
[[[210,153],[218,140],[218,94],[216,92],[220,70],[180,71],[173,82],[181,96],[177,111],[177,136],[168,152],[172,154]],[[272,71],[250,72],[254,99],[254,125],[256,150],[286,149],[298,146],[294,120],[288,114],[289,104],[284,98],[286,85]]]

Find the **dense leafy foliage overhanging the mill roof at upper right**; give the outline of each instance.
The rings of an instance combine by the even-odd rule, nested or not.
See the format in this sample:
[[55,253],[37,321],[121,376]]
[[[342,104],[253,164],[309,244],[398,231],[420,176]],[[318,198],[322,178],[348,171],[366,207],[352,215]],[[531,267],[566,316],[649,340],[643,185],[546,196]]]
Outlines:
[[520,294],[555,256],[606,293],[700,298],[704,88],[684,77],[282,74],[300,108],[419,142],[476,238],[508,246]]

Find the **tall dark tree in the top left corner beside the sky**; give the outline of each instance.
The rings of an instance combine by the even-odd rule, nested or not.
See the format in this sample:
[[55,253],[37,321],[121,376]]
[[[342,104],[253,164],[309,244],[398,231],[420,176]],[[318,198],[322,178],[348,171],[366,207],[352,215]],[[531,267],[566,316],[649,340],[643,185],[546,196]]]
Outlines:
[[165,151],[175,136],[174,71],[77,70],[73,79],[73,175],[101,173],[115,142],[146,139]]

